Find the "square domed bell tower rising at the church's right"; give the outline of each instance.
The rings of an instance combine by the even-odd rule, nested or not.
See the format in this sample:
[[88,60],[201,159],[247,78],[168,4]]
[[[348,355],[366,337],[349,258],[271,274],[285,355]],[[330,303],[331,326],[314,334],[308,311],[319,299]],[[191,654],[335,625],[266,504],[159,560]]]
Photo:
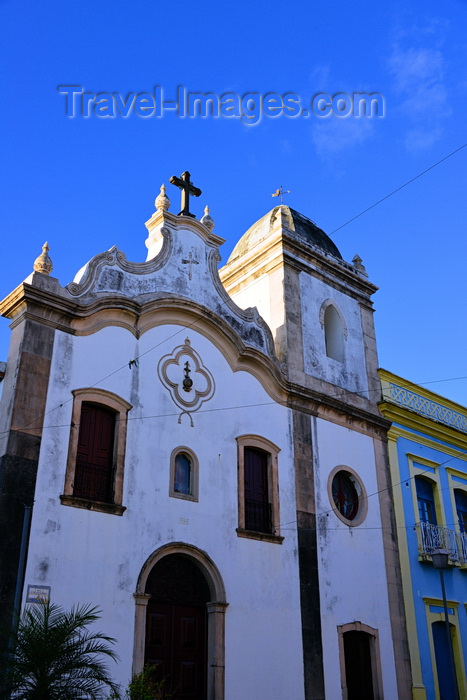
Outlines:
[[257,306],[269,324],[289,380],[378,400],[377,287],[361,258],[345,262],[324,231],[281,205],[242,236],[220,275],[237,304]]

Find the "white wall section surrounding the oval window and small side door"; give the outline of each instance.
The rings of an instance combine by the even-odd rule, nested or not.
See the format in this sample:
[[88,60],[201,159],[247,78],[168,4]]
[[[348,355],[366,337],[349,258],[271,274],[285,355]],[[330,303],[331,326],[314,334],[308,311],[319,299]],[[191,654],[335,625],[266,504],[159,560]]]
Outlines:
[[[372,438],[312,419],[318,566],[326,698],[340,698],[338,625],[360,621],[379,632],[384,697],[397,698],[378,485]],[[333,512],[328,480],[334,467],[350,467],[363,482],[368,511],[357,527]]]

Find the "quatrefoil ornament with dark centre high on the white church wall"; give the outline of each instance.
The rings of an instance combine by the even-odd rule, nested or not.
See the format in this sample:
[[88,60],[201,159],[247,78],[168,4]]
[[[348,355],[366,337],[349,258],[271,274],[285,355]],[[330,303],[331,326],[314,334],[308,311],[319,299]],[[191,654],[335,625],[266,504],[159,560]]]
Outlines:
[[157,373],[172,401],[181,409],[178,422],[181,423],[183,414],[186,414],[193,427],[191,414],[214,396],[215,382],[188,338],[184,345],[161,357]]

